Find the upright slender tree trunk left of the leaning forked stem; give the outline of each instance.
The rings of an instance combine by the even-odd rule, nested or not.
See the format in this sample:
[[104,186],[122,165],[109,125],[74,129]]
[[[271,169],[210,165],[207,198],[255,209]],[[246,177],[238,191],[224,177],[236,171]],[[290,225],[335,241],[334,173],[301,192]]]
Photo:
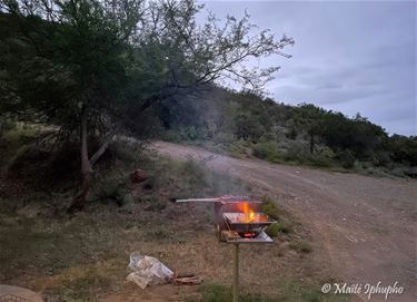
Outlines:
[[81,211],[86,204],[87,194],[91,186],[91,164],[88,158],[88,144],[87,144],[87,109],[86,107],[82,108],[81,113],[81,182],[80,182],[80,188],[78,193],[76,194],[73,202],[71,206],[68,208],[69,213],[73,213],[77,211]]

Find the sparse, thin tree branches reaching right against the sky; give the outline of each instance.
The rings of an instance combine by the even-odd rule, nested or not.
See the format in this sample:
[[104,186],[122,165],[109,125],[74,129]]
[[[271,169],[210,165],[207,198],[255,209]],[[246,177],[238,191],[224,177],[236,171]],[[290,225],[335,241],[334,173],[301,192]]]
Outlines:
[[206,22],[198,25],[196,16],[202,8],[193,0],[152,2],[140,23],[142,35],[136,46],[162,50],[158,53],[167,62],[165,90],[195,89],[220,79],[260,90],[279,67],[249,68],[245,64],[270,55],[289,58],[282,49],[294,45],[294,39],[276,39],[269,30],[251,33],[257,27],[249,22],[248,13],[241,20],[228,16],[221,22],[208,12]]

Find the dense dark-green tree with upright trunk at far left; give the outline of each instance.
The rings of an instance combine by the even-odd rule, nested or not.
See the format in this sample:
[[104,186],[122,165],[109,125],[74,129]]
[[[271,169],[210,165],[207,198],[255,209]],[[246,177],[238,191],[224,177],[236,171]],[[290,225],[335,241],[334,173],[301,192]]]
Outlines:
[[[131,62],[129,39],[140,1],[2,1],[2,109],[80,135],[81,182],[70,211],[82,208],[92,167],[110,144],[123,111]],[[91,152],[88,137],[102,138]]]

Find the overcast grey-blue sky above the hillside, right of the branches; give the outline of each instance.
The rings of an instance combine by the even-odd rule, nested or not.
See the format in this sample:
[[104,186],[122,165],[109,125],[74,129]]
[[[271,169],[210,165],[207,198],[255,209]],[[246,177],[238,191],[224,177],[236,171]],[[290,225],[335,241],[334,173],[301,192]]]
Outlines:
[[360,113],[388,133],[417,134],[416,1],[203,1],[296,40],[267,89],[278,101]]

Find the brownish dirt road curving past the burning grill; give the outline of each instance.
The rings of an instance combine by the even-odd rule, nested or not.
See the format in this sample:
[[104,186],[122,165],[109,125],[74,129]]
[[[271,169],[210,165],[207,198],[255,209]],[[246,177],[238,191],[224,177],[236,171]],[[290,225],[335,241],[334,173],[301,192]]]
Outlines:
[[[262,187],[312,230],[319,261],[347,285],[404,286],[388,301],[417,301],[417,182],[330,173],[296,166],[237,159],[169,143],[155,148],[175,158],[211,158],[209,168]],[[378,291],[378,288],[375,288]],[[386,301],[371,295],[371,301]]]

